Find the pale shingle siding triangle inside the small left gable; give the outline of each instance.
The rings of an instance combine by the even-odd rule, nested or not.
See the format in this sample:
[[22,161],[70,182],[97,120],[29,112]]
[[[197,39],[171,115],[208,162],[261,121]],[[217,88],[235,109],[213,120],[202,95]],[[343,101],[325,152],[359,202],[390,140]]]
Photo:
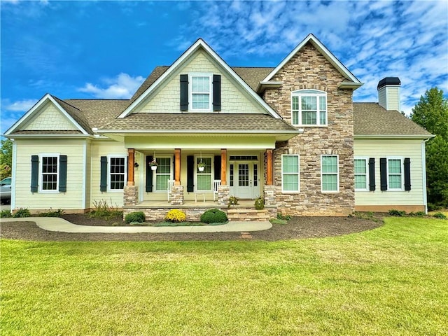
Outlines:
[[41,113],[31,120],[23,130],[78,130],[70,120],[62,115],[56,106],[48,102]]

